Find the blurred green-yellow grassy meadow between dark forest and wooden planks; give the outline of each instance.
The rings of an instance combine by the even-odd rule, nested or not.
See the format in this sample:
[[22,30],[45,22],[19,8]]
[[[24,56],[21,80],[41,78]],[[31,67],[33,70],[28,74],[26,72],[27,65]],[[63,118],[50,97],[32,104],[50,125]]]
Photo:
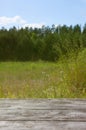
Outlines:
[[86,98],[86,49],[51,62],[1,62],[0,98]]

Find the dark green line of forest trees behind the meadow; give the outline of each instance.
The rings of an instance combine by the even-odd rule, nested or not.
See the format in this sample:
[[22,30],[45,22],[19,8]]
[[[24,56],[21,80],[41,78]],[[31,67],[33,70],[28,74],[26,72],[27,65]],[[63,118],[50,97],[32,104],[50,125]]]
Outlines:
[[0,29],[0,61],[57,61],[86,47],[86,24]]

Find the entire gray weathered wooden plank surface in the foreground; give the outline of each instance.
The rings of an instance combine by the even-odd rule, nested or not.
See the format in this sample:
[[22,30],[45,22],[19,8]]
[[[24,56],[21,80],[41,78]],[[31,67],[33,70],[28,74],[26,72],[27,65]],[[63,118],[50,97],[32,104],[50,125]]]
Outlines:
[[0,99],[0,130],[86,130],[86,100]]

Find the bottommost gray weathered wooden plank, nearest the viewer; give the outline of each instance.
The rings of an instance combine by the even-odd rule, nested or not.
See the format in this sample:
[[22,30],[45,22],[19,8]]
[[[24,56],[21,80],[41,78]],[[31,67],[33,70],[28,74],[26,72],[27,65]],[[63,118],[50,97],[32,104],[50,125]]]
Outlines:
[[86,130],[86,123],[57,121],[0,121],[0,130]]

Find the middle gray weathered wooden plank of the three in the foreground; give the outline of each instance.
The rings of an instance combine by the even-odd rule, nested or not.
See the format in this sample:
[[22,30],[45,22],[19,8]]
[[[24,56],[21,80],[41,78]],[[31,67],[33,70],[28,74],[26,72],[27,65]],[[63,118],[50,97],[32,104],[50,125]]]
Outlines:
[[84,121],[86,110],[0,110],[0,121]]

